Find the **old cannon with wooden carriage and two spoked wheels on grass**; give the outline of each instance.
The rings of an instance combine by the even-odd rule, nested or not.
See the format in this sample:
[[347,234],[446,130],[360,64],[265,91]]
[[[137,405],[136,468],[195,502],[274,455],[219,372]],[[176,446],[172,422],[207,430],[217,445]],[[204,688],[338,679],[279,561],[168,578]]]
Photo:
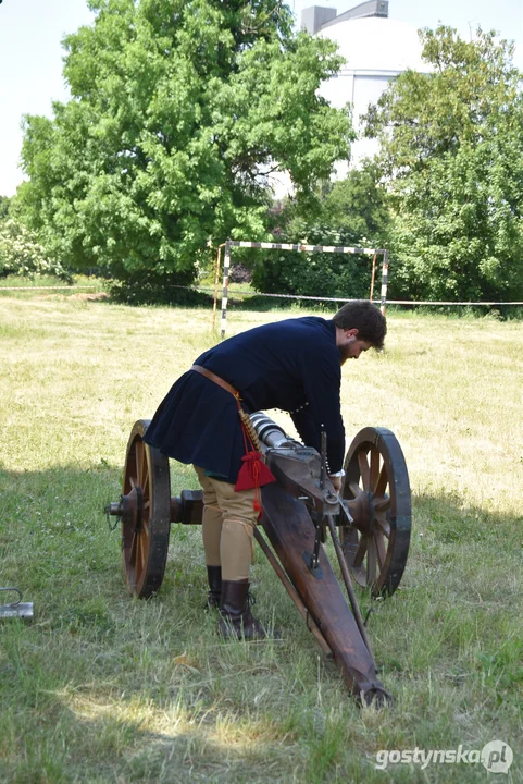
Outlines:
[[[411,497],[401,448],[390,430],[368,427],[352,440],[336,493],[322,452],[289,438],[266,414],[250,415],[263,460],[276,481],[262,488],[254,537],[356,698],[390,701],[377,677],[353,581],[372,597],[394,593],[407,562]],[[169,458],[144,441],[149,421],[138,420],[127,444],[120,501],[105,507],[121,519],[122,556],[132,593],[160,590],[172,523],[201,524],[202,491],[171,497]],[[327,556],[329,534],[349,602]]]

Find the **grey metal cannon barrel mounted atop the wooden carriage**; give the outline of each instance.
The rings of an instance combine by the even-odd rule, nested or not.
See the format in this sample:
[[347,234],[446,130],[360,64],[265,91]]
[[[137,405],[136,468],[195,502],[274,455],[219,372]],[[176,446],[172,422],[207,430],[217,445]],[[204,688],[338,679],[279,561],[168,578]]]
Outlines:
[[316,519],[339,515],[340,500],[328,478],[322,478],[322,456],[315,449],[289,438],[263,412],[251,414],[265,463],[278,485],[304,501]]

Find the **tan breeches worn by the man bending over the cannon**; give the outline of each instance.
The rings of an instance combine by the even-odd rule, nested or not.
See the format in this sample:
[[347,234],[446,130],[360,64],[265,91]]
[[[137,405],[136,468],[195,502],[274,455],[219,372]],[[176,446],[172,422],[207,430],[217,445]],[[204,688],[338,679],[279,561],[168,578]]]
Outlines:
[[203,490],[201,529],[208,566],[222,566],[222,579],[249,578],[252,537],[258,522],[254,490],[235,492],[234,485],[206,476],[195,466]]

